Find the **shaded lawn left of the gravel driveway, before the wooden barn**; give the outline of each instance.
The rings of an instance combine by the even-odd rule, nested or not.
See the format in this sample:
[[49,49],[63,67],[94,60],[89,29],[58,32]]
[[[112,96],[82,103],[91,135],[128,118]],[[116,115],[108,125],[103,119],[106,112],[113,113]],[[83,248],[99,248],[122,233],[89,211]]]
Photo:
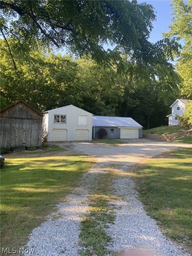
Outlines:
[[90,169],[87,156],[64,156],[61,151],[64,149],[51,146],[47,151],[6,155],[1,169],[2,247],[24,245],[32,229],[66,200]]

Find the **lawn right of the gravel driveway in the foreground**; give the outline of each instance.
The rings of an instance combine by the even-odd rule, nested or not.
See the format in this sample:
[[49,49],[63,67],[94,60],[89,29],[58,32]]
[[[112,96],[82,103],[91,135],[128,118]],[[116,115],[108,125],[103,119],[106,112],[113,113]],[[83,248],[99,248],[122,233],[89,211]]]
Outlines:
[[[192,149],[147,160],[135,169],[140,200],[164,233],[192,253]],[[185,242],[185,243],[183,243]]]

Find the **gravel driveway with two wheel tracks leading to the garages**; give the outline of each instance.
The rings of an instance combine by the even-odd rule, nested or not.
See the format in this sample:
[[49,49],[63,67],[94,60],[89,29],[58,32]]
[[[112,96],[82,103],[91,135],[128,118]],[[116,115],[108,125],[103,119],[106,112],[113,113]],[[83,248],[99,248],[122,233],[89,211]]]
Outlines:
[[[68,153],[84,153],[95,158],[97,164],[84,174],[79,187],[72,195],[68,195],[69,202],[58,205],[60,218],[51,216],[38,228],[35,228],[26,245],[34,249],[34,253],[25,255],[41,256],[78,256],[79,215],[87,212],[91,181],[102,173],[103,165],[119,164],[119,170],[127,170],[130,165],[139,163],[143,158],[154,157],[177,148],[192,147],[191,144],[152,141],[149,139],[127,139],[127,143],[118,146],[95,144],[89,142],[59,142],[57,145],[68,149]],[[66,151],[65,151],[66,152]],[[115,224],[111,224],[106,232],[112,237],[109,251],[125,250],[130,252],[138,247],[147,247],[160,256],[187,256],[161,232],[156,222],[145,212],[142,203],[137,199],[134,184],[129,178],[120,178],[114,183],[117,195],[124,195],[125,199],[113,201],[117,206]],[[83,202],[83,204],[82,204]],[[121,206],[121,207],[119,207]],[[110,255],[110,254],[109,254]]]

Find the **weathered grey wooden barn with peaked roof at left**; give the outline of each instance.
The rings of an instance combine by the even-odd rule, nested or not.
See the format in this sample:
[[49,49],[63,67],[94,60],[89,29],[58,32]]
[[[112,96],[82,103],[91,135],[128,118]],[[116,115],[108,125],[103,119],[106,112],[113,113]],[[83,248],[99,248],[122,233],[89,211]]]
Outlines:
[[20,100],[0,111],[1,147],[42,146],[43,115]]

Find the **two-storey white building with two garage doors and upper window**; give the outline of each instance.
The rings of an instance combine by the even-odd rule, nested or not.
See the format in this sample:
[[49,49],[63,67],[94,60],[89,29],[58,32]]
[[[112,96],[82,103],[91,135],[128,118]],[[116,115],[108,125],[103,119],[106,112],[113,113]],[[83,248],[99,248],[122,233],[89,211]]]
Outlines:
[[42,113],[47,141],[92,140],[93,114],[73,105]]

